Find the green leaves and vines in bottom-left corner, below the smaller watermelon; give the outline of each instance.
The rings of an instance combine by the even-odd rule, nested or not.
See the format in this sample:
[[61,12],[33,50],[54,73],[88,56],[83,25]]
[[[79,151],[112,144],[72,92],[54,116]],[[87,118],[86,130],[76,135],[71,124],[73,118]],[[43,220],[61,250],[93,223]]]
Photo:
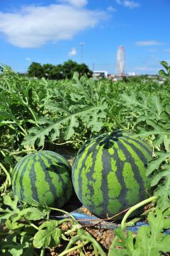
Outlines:
[[[77,221],[74,221],[73,217],[72,221],[69,218],[59,221],[52,220],[50,218],[50,208],[44,208],[40,205],[35,207],[28,204],[18,204],[17,198],[11,199],[9,195],[4,196],[2,206],[3,208],[0,208],[2,213],[0,225],[1,228],[4,227],[4,230],[0,232],[1,255],[37,255],[37,252],[38,255],[44,255],[45,249],[52,249],[52,247],[63,243],[63,240],[65,240],[67,241],[67,247],[63,255],[67,255],[67,251],[74,250],[75,244],[78,244],[81,251],[84,250],[83,246],[85,244],[91,243],[96,251],[106,256],[96,240],[81,229],[81,226]],[[55,208],[52,209],[60,211]],[[65,225],[64,230],[62,230],[62,223]],[[69,234],[73,232],[74,235],[69,239]],[[38,249],[40,249],[40,252]]]

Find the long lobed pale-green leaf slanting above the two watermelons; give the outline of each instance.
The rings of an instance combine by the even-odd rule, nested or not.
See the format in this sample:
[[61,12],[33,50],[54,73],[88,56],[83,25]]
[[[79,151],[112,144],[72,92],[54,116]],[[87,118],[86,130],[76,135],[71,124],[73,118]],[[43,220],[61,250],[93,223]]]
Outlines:
[[[45,137],[49,136],[52,141],[56,140],[60,136],[60,130],[62,126],[67,124],[67,129],[64,130],[65,139],[69,139],[74,134],[74,128],[79,126],[79,122],[77,118],[80,118],[81,121],[85,125],[88,126],[88,123],[85,120],[91,119],[91,126],[92,130],[98,131],[101,129],[101,124],[103,119],[106,118],[106,114],[102,112],[107,108],[107,104],[105,102],[101,103],[99,106],[90,106],[88,108],[83,108],[76,113],[69,113],[69,115],[64,116],[62,118],[57,119],[57,121],[53,121],[52,123],[48,124],[44,128],[31,128],[28,130],[28,135],[26,136],[25,140],[23,140],[22,145],[33,146],[36,142],[38,142],[38,146],[42,146],[45,143]],[[95,116],[95,120],[98,120],[98,126],[96,126],[95,120],[93,118]],[[45,120],[44,120],[45,121]],[[69,123],[69,125],[68,125]]]

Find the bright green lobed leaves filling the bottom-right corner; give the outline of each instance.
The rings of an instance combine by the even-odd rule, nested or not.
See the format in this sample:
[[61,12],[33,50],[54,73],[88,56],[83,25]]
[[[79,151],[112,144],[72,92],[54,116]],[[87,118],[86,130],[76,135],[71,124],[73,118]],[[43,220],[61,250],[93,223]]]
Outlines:
[[169,252],[170,235],[166,235],[164,230],[170,227],[170,211],[162,213],[159,208],[154,213],[149,213],[147,221],[149,226],[139,228],[134,237],[131,231],[127,236],[122,229],[116,229],[115,234],[122,242],[116,245],[122,247],[122,250],[111,246],[108,256],[160,256]]

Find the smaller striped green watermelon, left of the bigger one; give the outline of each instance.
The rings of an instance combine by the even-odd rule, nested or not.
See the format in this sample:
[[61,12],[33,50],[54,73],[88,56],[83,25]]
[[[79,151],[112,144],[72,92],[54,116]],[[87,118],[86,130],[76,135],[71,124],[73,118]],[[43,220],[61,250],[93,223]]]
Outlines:
[[42,150],[27,155],[12,172],[13,193],[32,203],[61,207],[72,195],[72,169],[56,152]]

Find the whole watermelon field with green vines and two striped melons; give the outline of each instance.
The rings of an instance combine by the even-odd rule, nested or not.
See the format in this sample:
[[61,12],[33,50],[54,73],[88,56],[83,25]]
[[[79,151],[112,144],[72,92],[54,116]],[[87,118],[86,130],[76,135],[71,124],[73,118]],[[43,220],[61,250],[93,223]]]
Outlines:
[[[1,66],[0,255],[170,255],[170,66],[161,64],[157,77],[117,82],[29,79]],[[81,204],[117,228],[83,224],[72,214]]]

